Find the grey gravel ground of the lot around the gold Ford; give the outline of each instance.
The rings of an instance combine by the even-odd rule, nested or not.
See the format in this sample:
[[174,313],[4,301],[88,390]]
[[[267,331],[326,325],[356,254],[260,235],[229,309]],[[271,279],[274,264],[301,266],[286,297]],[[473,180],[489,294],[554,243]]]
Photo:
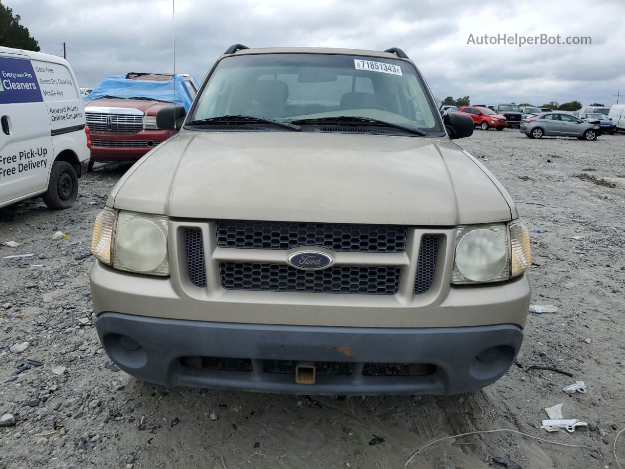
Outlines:
[[[533,302],[521,367],[462,396],[317,398],[164,388],[119,371],[93,326],[91,226],[128,169],[96,166],[77,203],[40,199],[0,209],[0,468],[616,468],[625,426],[625,136],[597,141],[476,131],[459,141],[499,178],[532,230]],[[579,177],[574,177],[579,176]],[[64,238],[53,240],[56,231]],[[14,375],[26,362],[26,368]],[[567,371],[528,370],[532,365]],[[24,368],[24,366],[22,366]],[[16,378],[13,378],[16,376]],[[562,387],[586,381],[587,393]],[[541,430],[564,403],[587,421],[571,434]],[[383,441],[375,443],[374,436]],[[617,445],[625,461],[625,436]],[[494,458],[504,458],[497,463]]]

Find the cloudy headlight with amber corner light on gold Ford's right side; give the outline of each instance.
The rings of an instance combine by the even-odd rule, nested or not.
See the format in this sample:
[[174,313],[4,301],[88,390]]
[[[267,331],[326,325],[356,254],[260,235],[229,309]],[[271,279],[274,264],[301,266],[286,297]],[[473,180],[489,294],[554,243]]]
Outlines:
[[461,225],[452,283],[487,283],[521,275],[531,263],[529,232],[520,221]]

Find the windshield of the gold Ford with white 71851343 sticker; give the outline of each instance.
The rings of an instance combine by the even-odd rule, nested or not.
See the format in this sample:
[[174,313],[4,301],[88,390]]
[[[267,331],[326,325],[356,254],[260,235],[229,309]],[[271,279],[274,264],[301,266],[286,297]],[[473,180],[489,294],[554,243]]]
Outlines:
[[442,132],[411,63],[331,54],[249,54],[222,59],[187,122],[244,115],[282,122],[364,117]]

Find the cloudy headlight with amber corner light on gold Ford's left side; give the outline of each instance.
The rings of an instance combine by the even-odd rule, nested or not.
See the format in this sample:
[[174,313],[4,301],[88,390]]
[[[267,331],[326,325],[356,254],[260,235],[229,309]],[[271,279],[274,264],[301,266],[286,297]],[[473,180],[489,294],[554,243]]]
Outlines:
[[119,270],[169,275],[167,223],[163,215],[105,208],[96,217],[91,252]]

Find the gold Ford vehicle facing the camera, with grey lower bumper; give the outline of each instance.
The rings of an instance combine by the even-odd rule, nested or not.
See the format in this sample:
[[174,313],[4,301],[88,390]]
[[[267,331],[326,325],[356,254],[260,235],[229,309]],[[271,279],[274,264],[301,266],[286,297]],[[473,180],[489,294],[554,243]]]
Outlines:
[[106,353],[164,385],[476,390],[519,351],[529,236],[401,49],[227,49],[98,215]]

